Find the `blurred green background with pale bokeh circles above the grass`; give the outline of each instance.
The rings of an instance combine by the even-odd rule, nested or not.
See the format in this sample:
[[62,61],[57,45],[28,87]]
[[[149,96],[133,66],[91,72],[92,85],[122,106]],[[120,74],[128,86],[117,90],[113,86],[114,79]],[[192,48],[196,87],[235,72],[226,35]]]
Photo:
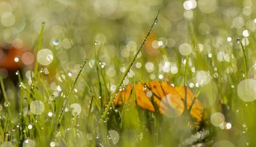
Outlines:
[[[42,22],[46,22],[42,48],[47,50],[42,54],[50,57],[48,62],[41,61],[46,62],[42,65],[54,67],[60,63],[66,71],[73,71],[77,63],[91,58],[97,40],[97,44],[101,45],[99,59],[107,66],[108,76],[114,77],[122,63],[128,63],[140,46],[159,9],[159,23],[142,51],[145,52],[142,54],[144,64],[148,63],[146,70],[154,69],[152,62],[163,61],[163,58],[157,58],[161,48],[165,48],[168,58],[176,63],[177,56],[184,55],[182,50],[191,46],[187,44],[191,43],[191,37],[196,38],[202,53],[208,55],[214,50],[219,55],[219,61],[223,61],[225,54],[232,51],[231,42],[241,37],[245,43],[244,37],[255,32],[256,12],[252,9],[255,5],[251,0],[2,0],[1,70],[6,73],[4,69],[14,70],[18,66],[31,68],[35,62]],[[12,48],[17,50],[10,50]],[[6,62],[9,56],[11,59]],[[121,62],[115,62],[116,59]],[[12,63],[14,61],[17,63]],[[137,66],[140,69],[141,64]],[[175,74],[176,69],[167,68],[165,71]]]

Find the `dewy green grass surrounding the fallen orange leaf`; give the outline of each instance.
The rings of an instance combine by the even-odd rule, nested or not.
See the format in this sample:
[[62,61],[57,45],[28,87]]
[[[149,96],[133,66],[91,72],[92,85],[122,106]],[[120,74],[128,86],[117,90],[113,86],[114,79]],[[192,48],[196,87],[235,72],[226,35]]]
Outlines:
[[[247,37],[250,42],[248,45],[242,44],[242,41],[237,43],[234,36],[232,42],[223,42],[220,48],[215,48],[213,44],[210,44],[207,47],[212,47],[212,50],[205,47],[204,50],[200,51],[198,44],[202,43],[202,35],[193,26],[199,20],[187,21],[189,35],[186,37],[189,38],[187,42],[191,46],[191,53],[186,50],[187,55],[181,55],[177,47],[160,47],[155,49],[160,51],[159,55],[149,56],[145,51],[145,43],[150,40],[148,39],[150,33],[156,33],[160,30],[161,21],[164,21],[159,17],[160,14],[161,12],[158,12],[155,19],[152,19],[153,24],[147,26],[149,31],[144,39],[137,39],[143,40],[143,42],[133,55],[127,58],[116,55],[111,59],[112,61],[108,66],[114,66],[117,69],[115,77],[108,77],[107,66],[100,61],[100,55],[104,55],[104,45],[93,42],[90,44],[90,46],[93,45],[93,49],[90,49],[89,53],[86,52],[86,56],[82,58],[86,58],[85,61],[80,62],[79,68],[74,70],[72,76],[69,76],[69,71],[63,67],[57,58],[55,62],[52,62],[52,65],[47,66],[54,76],[44,73],[44,66],[41,66],[36,60],[35,66],[31,69],[34,74],[32,83],[29,83],[25,77],[25,69],[17,71],[18,86],[9,84],[8,81],[11,80],[8,78],[4,80],[0,78],[3,95],[1,101],[3,109],[0,111],[1,147],[6,147],[6,144],[10,144],[10,142],[13,146],[29,147],[161,147],[193,146],[195,144],[212,146],[216,142],[227,147],[232,146],[228,146],[228,144],[239,147],[255,146],[256,119],[254,116],[256,110],[254,100],[245,101],[238,94],[239,92],[243,93],[243,98],[247,100],[249,98],[255,99],[256,84],[247,81],[247,79],[256,80],[254,33],[251,32],[250,36]],[[42,46],[47,46],[44,45],[45,25],[47,24],[42,24],[36,52],[40,51]],[[225,28],[224,24],[223,28]],[[232,34],[229,29],[226,31]],[[214,38],[214,36],[209,37],[210,39]],[[118,46],[119,43],[116,42],[116,46]],[[83,43],[83,46],[88,44]],[[78,48],[76,43],[72,44],[71,49],[75,50],[76,48]],[[225,59],[220,61],[220,51],[225,52],[221,58],[229,56],[229,62]],[[55,53],[57,54],[57,51]],[[137,58],[139,54],[141,57]],[[208,56],[208,54],[212,56]],[[149,61],[155,65],[155,70],[152,72],[149,72],[144,66],[141,68],[135,66],[138,62],[145,65]],[[161,71],[164,62],[176,63],[178,72],[173,74],[170,71],[167,73]],[[119,71],[121,67],[126,68],[123,73]],[[129,77],[131,71],[134,76]],[[206,77],[199,77],[202,78],[202,82],[209,81],[206,84],[195,86],[197,82],[201,82],[197,79],[197,74],[201,71],[202,74],[206,74]],[[114,105],[113,101],[116,94],[126,87],[126,84],[123,84],[125,80],[129,80],[129,84],[133,84],[133,93],[129,93],[128,96],[130,99],[131,96],[136,96],[134,85],[137,82],[150,81],[150,74],[155,74],[157,81],[167,80],[175,86],[185,86],[184,105],[187,104],[187,88],[191,89],[194,93],[194,99],[182,116],[169,118],[160,114],[159,111],[143,110],[137,105],[129,103],[124,103],[121,107]],[[160,74],[164,78],[158,78]],[[239,86],[242,81],[245,84]],[[60,88],[55,90],[55,92],[58,91],[58,96],[54,96],[57,94],[51,88],[52,82],[55,82],[55,85]],[[193,86],[190,85],[191,83]],[[111,90],[111,85],[116,85],[114,91]],[[10,99],[6,92],[7,89],[12,89],[14,93],[17,93],[18,100]],[[205,105],[205,113],[208,116],[198,126],[187,123],[193,122],[193,119],[187,115],[193,109],[196,99]],[[35,108],[33,103],[37,100],[40,100],[39,105],[44,107],[40,114],[35,114],[36,112],[33,110]],[[136,103],[135,97],[134,104]],[[42,110],[39,105],[36,107],[39,110],[36,111]],[[225,123],[231,123],[230,130],[213,125],[210,116],[215,112],[221,112],[225,116]],[[198,135],[202,136],[203,134],[205,135],[204,138],[198,137]],[[193,137],[194,140],[191,141]],[[229,141],[229,143],[220,141]]]

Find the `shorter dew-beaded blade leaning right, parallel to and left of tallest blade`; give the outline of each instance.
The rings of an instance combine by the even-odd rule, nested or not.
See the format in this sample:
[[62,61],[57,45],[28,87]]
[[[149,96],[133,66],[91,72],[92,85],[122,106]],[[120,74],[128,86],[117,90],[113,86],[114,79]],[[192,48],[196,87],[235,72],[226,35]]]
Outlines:
[[83,65],[80,67],[80,70],[78,71],[77,77],[76,77],[76,79],[74,80],[73,85],[71,86],[71,89],[70,89],[70,91],[69,91],[69,94],[67,95],[67,99],[64,101],[63,107],[61,108],[61,112],[59,113],[59,116],[58,116],[58,125],[61,124],[61,120],[62,120],[62,117],[63,117],[63,115],[64,115],[63,112],[64,112],[65,108],[67,107],[67,103],[68,103],[69,100],[70,100],[69,97],[70,97],[71,93],[72,93],[73,90],[74,90],[74,86],[76,85],[76,82],[77,82],[77,80],[78,80],[78,77],[80,77],[80,74],[81,74],[81,72],[82,72],[82,69],[84,69],[84,66],[85,66],[85,63],[86,63],[86,62],[87,62],[87,59],[85,59]]

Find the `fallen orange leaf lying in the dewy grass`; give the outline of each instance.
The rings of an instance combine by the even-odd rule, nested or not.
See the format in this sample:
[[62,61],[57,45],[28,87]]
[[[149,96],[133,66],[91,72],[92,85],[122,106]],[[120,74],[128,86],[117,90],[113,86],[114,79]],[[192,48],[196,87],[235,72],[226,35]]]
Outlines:
[[[142,109],[155,112],[156,108],[159,108],[161,114],[170,117],[182,115],[185,110],[185,86],[173,87],[167,82],[152,80],[145,84],[138,82],[138,84],[134,85],[134,88],[137,104]],[[114,104],[122,105],[123,102],[127,103],[131,91],[132,86],[128,85],[124,91],[118,92]],[[193,92],[187,88],[187,110],[189,110],[193,99]],[[134,103],[133,93],[131,93],[129,103]],[[204,106],[198,99],[195,99],[190,115],[200,122],[203,118],[203,111]]]

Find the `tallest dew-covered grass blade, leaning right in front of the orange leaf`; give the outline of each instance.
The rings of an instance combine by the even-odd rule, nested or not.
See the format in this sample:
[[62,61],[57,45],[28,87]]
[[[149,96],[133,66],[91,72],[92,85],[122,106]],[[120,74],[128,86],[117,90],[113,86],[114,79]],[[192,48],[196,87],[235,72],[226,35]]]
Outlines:
[[107,108],[106,108],[106,110],[103,112],[103,115],[102,115],[102,117],[101,117],[101,119],[100,119],[100,122],[102,122],[103,119],[106,118],[107,112],[108,112],[108,110],[110,109],[111,104],[112,104],[112,102],[114,101],[115,96],[116,96],[116,94],[118,93],[119,88],[120,88],[120,86],[121,86],[122,83],[123,83],[123,80],[125,80],[125,77],[126,77],[127,74],[129,73],[129,71],[130,71],[130,69],[131,69],[131,66],[133,66],[133,63],[135,62],[135,59],[137,58],[138,54],[140,53],[141,48],[144,47],[144,44],[145,44],[146,40],[148,39],[148,36],[150,35],[150,32],[151,32],[152,28],[154,27],[155,24],[157,24],[157,22],[158,22],[157,17],[158,17],[158,15],[159,15],[159,12],[160,12],[160,10],[158,11],[157,16],[156,16],[156,18],[155,18],[153,24],[151,25],[151,27],[150,27],[150,29],[149,29],[149,31],[148,31],[148,34],[146,35],[146,37],[145,37],[144,41],[142,42],[140,48],[138,48],[138,50],[136,51],[135,55],[133,56],[133,59],[131,60],[131,62],[129,63],[127,69],[125,70],[125,73],[123,73],[123,76],[122,76],[121,80],[119,80],[119,83],[118,83],[118,85],[116,86],[116,89],[115,89],[113,95],[111,96],[110,101],[109,101],[108,104],[107,104]]

